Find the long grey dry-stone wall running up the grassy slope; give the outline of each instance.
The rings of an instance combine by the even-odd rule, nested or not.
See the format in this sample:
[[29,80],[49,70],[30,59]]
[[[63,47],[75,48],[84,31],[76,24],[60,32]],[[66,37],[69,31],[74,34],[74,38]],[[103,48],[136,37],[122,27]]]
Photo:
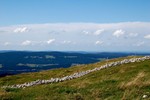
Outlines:
[[124,59],[124,60],[121,60],[121,61],[106,63],[105,65],[102,65],[100,67],[96,67],[94,69],[87,70],[87,71],[77,72],[77,73],[71,74],[69,76],[64,76],[64,77],[61,77],[61,78],[51,78],[49,80],[36,80],[36,81],[32,81],[32,82],[26,82],[26,83],[23,83],[23,84],[4,86],[3,88],[25,88],[25,87],[30,87],[30,86],[39,85],[39,84],[63,82],[63,81],[79,78],[81,76],[84,76],[86,74],[89,74],[91,72],[98,71],[98,70],[101,70],[101,69],[104,69],[104,68],[113,67],[113,66],[122,65],[122,64],[127,64],[127,63],[140,62],[140,61],[144,61],[144,60],[148,60],[148,59],[150,59],[150,56],[144,56],[144,57],[141,57],[141,58]]

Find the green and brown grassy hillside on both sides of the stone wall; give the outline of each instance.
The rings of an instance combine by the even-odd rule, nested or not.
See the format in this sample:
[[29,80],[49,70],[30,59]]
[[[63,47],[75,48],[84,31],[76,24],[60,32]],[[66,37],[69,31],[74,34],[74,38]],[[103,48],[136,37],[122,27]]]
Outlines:
[[[129,57],[130,58],[130,57]],[[109,60],[120,60],[113,59]],[[108,62],[109,62],[108,61]],[[37,73],[27,73],[0,78],[0,87],[61,77],[74,72],[98,67],[107,61],[56,69]],[[0,89],[0,99],[32,100],[140,100],[143,95],[150,96],[150,61],[124,64],[90,73],[78,79],[55,84],[37,85],[25,89]],[[149,97],[147,99],[150,99]]]

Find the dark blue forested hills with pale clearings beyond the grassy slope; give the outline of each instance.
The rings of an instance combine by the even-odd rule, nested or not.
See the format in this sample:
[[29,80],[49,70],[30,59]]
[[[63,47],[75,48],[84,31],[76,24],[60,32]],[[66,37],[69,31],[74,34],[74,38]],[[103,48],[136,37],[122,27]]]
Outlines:
[[[0,76],[67,68],[129,55],[135,53],[3,51],[0,53]],[[148,54],[137,53],[136,55]]]

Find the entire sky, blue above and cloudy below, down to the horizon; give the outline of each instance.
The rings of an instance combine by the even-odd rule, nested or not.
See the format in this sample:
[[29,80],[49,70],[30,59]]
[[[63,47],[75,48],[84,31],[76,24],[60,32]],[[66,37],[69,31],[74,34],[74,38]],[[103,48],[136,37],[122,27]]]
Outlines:
[[149,52],[150,0],[0,0],[0,50]]

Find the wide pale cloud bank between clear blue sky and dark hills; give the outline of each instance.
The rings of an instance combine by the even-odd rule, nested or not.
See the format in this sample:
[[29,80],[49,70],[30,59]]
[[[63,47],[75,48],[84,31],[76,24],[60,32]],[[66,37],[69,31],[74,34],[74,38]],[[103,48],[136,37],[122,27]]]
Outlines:
[[4,26],[0,27],[0,49],[149,51],[149,27],[149,22],[47,23]]

